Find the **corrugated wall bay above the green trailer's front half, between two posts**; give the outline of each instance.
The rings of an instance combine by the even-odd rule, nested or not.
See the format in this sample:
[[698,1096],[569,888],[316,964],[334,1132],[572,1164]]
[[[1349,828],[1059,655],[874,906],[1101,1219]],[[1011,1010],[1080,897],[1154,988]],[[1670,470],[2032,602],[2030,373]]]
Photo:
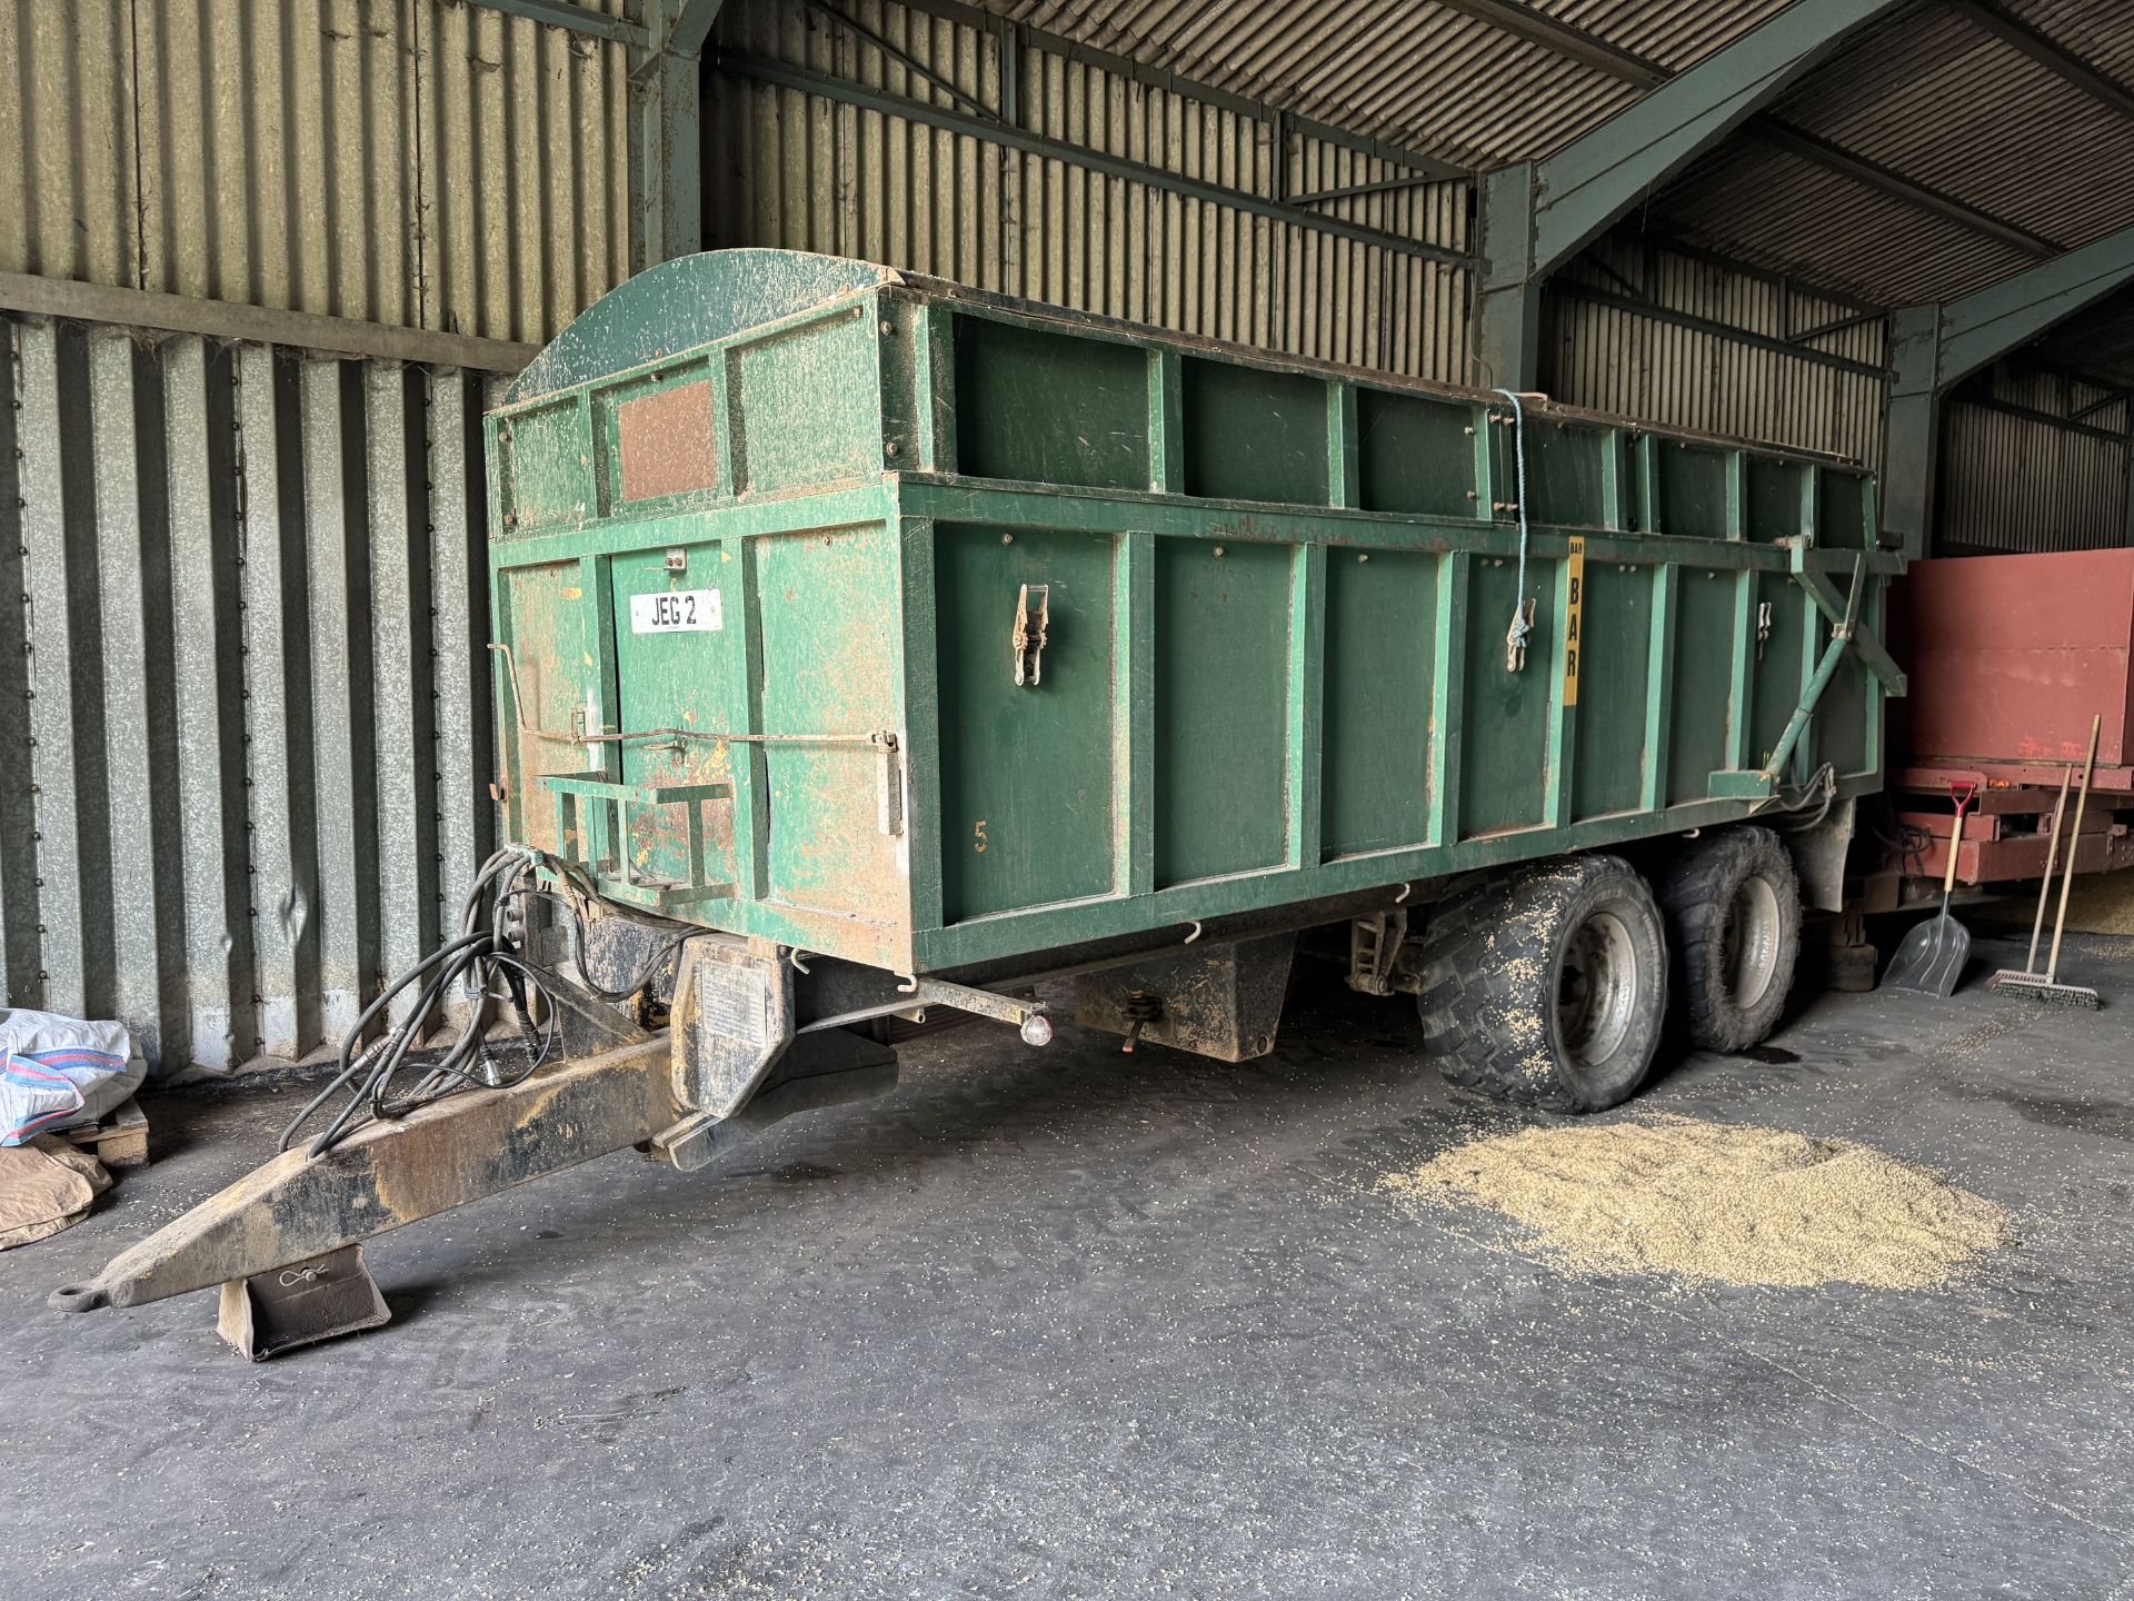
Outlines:
[[[1272,117],[879,0],[849,4],[845,19],[828,4],[743,0],[721,17],[717,60],[706,85],[706,228],[717,243],[866,256],[1180,333],[1453,382],[1466,374],[1462,265],[837,94],[854,85],[909,96],[1259,201],[1408,171],[1381,156],[1297,130],[1283,149]],[[798,68],[819,88],[768,83],[755,64]],[[1321,209],[1434,252],[1466,250],[1464,184]]]

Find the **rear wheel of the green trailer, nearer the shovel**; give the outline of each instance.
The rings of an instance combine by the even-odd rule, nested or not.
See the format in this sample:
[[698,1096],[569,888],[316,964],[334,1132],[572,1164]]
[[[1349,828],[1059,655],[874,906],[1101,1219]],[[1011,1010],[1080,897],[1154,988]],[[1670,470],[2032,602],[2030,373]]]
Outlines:
[[1660,877],[1675,995],[1690,1044],[1748,1050],[1793,993],[1801,954],[1801,879],[1769,828],[1690,841]]

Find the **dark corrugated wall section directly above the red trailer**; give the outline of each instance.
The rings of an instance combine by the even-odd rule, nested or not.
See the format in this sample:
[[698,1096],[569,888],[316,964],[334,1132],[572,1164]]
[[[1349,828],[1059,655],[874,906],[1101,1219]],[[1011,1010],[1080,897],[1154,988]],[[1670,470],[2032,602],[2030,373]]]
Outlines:
[[2128,399],[2066,374],[1991,367],[1948,397],[1936,553],[2134,544]]

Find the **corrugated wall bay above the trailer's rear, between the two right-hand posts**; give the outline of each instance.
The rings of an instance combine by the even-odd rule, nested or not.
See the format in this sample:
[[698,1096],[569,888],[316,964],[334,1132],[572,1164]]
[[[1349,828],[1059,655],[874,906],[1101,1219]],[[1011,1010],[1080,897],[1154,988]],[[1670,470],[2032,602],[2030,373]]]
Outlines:
[[1603,241],[1545,299],[1543,389],[1654,423],[1882,461],[1882,322],[1775,278]]

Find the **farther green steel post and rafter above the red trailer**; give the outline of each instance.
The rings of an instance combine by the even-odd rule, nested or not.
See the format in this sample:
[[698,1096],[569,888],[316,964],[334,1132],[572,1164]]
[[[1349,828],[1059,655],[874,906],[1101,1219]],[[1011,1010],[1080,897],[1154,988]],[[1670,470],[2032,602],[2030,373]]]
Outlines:
[[1891,314],[1882,529],[1904,540],[1908,557],[1925,555],[1933,525],[1942,395],[1948,386],[2128,282],[2134,282],[2134,228],[1987,284],[1961,301],[1908,305]]

